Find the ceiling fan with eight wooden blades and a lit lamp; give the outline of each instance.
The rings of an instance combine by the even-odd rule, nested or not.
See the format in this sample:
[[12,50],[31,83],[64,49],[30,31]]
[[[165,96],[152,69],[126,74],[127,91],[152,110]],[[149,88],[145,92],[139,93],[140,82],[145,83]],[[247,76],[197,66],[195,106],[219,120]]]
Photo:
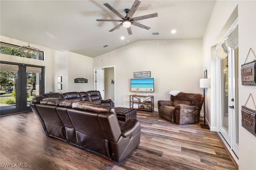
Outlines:
[[124,12],[126,13],[125,17],[122,14],[120,14],[117,10],[115,10],[112,6],[110,6],[110,4],[106,3],[106,4],[104,4],[104,6],[106,6],[108,9],[110,9],[112,12],[114,12],[122,20],[96,20],[96,21],[119,21],[119,22],[122,22],[122,23],[116,25],[114,28],[110,29],[109,30],[110,32],[112,32],[115,29],[121,27],[122,25],[127,28],[127,31],[128,31],[129,35],[132,34],[131,25],[135,25],[137,27],[141,27],[141,28],[144,28],[144,29],[148,30],[148,29],[150,29],[150,27],[148,27],[146,25],[143,25],[143,24],[140,24],[140,23],[135,22],[135,21],[145,20],[145,19],[148,19],[148,18],[154,18],[154,17],[157,17],[158,14],[154,13],[154,14],[148,14],[148,15],[145,15],[145,16],[139,16],[139,17],[132,18],[133,14],[138,9],[140,3],[141,3],[140,1],[135,0],[135,2],[132,5],[132,8],[130,10],[129,9],[125,9],[124,10]]

